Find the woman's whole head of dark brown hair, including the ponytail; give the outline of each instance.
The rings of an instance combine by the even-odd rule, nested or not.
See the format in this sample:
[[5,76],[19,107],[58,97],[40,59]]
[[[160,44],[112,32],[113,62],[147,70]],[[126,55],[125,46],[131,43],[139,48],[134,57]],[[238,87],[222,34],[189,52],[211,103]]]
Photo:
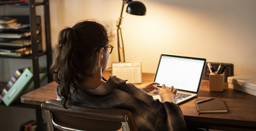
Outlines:
[[100,53],[97,52],[102,47],[108,50],[106,47],[113,38],[108,29],[107,24],[90,19],[59,32],[50,73],[58,83],[57,94],[63,98],[64,108],[68,108],[71,96],[77,91],[76,81],[94,76],[100,67]]

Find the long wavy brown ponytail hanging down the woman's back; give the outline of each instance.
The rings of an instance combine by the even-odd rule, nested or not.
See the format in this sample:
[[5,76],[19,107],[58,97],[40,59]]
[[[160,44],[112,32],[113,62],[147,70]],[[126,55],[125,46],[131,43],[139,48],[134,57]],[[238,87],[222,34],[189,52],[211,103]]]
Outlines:
[[[51,65],[50,71],[54,80],[59,84],[59,96],[63,96],[62,103],[68,103],[71,99],[70,85],[77,87],[75,80],[78,79],[78,70],[73,65],[78,56],[76,46],[78,45],[75,30],[65,28],[58,34],[58,44],[55,46],[55,61]],[[79,62],[79,61],[78,61]],[[80,65],[77,63],[77,65]],[[75,79],[74,79],[75,78]],[[65,88],[64,88],[65,87]],[[74,88],[76,91],[77,88]],[[66,104],[64,104],[66,107]]]

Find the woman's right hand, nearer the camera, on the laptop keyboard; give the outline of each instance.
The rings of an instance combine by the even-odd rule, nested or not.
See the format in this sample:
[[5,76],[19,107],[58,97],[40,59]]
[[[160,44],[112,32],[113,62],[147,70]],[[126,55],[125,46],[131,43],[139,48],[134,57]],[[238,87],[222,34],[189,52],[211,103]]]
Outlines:
[[173,88],[173,86],[169,88],[168,86],[165,87],[165,84],[162,85],[162,90],[159,91],[159,95],[163,101],[170,101],[176,103],[174,99],[177,93],[177,89]]

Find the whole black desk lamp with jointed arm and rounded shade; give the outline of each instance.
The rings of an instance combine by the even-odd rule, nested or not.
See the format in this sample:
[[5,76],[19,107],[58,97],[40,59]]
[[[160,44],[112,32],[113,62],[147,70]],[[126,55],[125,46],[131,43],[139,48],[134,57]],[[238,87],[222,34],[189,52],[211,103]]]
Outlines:
[[[122,10],[121,10],[121,15],[117,20],[117,43],[118,43],[118,56],[119,56],[119,62],[125,62],[124,59],[124,47],[123,47],[123,37],[122,37],[122,32],[120,25],[122,23],[122,14],[123,14],[123,8],[125,4],[127,5],[126,12],[132,15],[139,15],[143,16],[146,15],[146,6],[139,1],[132,1],[132,0],[123,0],[122,4]],[[119,36],[120,35],[120,36]],[[120,37],[121,37],[121,43],[120,43]]]

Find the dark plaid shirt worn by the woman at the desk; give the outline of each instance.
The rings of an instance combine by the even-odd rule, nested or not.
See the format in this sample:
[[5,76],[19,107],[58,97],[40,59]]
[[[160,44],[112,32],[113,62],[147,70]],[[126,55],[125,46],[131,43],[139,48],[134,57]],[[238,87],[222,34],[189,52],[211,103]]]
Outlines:
[[[106,83],[94,90],[79,87],[70,104],[129,110],[139,131],[185,130],[184,116],[177,104],[154,100],[145,91],[126,81],[110,76]],[[57,96],[57,100],[60,99]]]

